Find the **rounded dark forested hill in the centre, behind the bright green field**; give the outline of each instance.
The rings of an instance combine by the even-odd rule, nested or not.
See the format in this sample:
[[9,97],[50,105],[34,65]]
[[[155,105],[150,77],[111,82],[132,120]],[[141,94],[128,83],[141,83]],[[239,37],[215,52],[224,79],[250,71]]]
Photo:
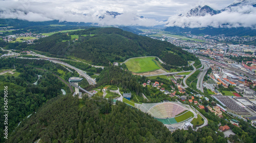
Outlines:
[[[78,36],[78,39],[72,38]],[[54,34],[34,41],[35,50],[84,59],[94,65],[123,62],[136,56],[155,55],[170,65],[186,66],[197,58],[175,45],[138,36],[119,28],[90,28],[68,34]]]

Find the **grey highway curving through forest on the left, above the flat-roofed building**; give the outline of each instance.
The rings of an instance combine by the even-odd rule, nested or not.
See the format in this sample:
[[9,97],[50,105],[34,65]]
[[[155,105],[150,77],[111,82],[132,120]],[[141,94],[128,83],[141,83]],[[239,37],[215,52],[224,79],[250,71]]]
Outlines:
[[78,69],[76,67],[73,67],[73,66],[71,66],[71,65],[69,65],[69,64],[67,64],[65,62],[62,62],[62,61],[59,61],[59,60],[56,60],[56,59],[52,59],[52,58],[23,58],[23,57],[20,57],[18,59],[32,59],[32,60],[48,60],[49,59],[48,61],[50,61],[50,62],[53,62],[53,63],[56,63],[56,64],[60,64],[60,65],[64,65],[66,67],[74,69],[75,71],[77,71],[77,73],[79,75],[81,75],[84,78],[86,78],[86,80],[89,82],[90,85],[97,84],[96,81],[93,78],[91,78],[89,75],[87,75],[85,73],[85,71],[82,71],[82,70],[80,70],[80,69]]

